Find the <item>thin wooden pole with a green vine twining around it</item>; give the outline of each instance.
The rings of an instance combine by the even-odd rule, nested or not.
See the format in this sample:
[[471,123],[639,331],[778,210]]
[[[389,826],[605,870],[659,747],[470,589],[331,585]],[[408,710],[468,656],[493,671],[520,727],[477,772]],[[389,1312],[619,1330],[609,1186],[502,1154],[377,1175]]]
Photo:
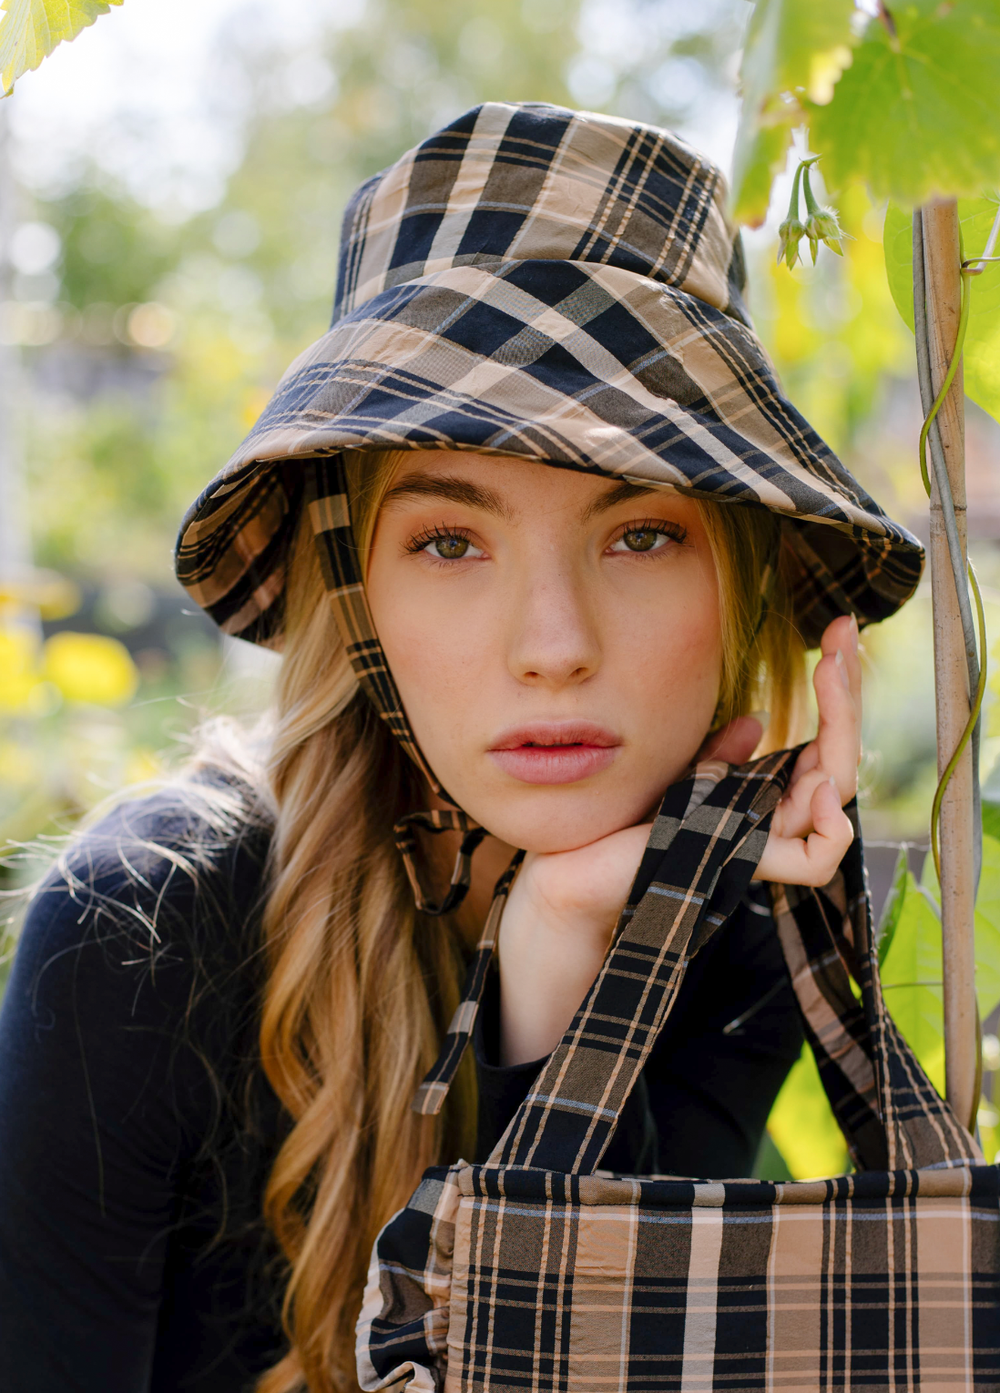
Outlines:
[[[923,274],[928,305],[930,379],[937,396],[951,362],[961,315],[961,249],[954,199],[922,209]],[[942,449],[951,481],[962,556],[965,525],[965,397],[962,369],[937,414]],[[933,429],[933,428],[932,428]],[[930,584],[935,616],[935,690],[937,699],[937,775],[958,747],[969,719],[969,674],[942,501],[930,471]],[[972,837],[972,749],[955,768],[940,822],[942,943],[944,967],[944,1077],[947,1099],[964,1123],[976,1113],[979,1028],[975,997],[975,869]]]

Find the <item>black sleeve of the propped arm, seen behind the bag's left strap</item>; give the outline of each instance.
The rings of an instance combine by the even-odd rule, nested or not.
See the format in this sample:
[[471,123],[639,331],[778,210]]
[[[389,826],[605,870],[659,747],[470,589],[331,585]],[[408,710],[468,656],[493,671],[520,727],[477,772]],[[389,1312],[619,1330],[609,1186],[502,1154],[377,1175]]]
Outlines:
[[[766,892],[753,886],[688,967],[602,1167],[705,1178],[748,1176],[802,1039]],[[492,974],[474,1035],[478,1162],[486,1160],[545,1063],[503,1067],[499,1041],[500,989]]]

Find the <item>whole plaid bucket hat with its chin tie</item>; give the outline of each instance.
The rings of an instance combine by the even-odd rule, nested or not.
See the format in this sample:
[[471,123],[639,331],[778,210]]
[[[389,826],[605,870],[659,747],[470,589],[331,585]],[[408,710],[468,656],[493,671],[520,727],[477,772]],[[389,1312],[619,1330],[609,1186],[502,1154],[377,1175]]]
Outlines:
[[333,323],[188,511],[181,584],[224,632],[280,648],[308,508],[359,685],[439,793],[368,610],[344,450],[475,450],[763,506],[806,644],[838,614],[886,618],[921,543],[783,396],[744,287],[721,174],[675,135],[475,107],[348,203]]

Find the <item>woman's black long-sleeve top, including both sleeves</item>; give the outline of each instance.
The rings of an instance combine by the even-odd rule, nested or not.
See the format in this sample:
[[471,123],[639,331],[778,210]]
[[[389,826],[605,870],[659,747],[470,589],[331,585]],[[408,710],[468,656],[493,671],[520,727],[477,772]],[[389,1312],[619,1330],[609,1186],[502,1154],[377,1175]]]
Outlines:
[[[258,1056],[267,846],[167,790],[85,833],[31,904],[0,1010],[4,1393],[247,1393],[284,1350],[260,1217],[288,1126]],[[493,983],[476,1159],[540,1064],[496,1066],[496,1017]],[[603,1165],[748,1174],[801,1042],[748,900],[691,964]]]

